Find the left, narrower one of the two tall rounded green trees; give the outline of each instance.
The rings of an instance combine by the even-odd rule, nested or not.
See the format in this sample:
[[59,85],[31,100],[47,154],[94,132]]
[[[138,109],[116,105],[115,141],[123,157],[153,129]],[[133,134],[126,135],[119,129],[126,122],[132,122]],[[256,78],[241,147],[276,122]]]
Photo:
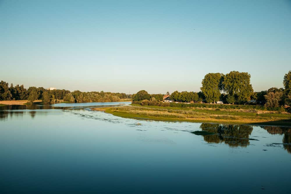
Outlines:
[[200,88],[205,96],[207,102],[215,102],[219,100],[221,95],[221,73],[209,73],[204,76],[202,80],[202,87]]

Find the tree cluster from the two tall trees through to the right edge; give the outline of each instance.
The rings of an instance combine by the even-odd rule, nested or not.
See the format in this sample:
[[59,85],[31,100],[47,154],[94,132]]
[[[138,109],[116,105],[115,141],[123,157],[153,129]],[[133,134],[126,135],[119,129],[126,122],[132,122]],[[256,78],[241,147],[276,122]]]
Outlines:
[[[223,101],[227,104],[246,104],[253,102],[266,107],[291,105],[291,71],[285,74],[283,88],[270,88],[253,92],[251,75],[247,72],[232,71],[228,74],[209,73],[202,80],[201,92],[207,103]],[[223,93],[222,93],[223,92]]]

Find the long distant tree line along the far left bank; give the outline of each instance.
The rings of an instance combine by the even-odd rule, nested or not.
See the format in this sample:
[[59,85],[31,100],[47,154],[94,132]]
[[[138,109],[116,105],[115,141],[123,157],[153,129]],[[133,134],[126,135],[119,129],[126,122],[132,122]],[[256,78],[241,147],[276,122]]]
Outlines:
[[131,98],[131,95],[125,93],[112,92],[81,92],[76,90],[47,90],[43,87],[29,87],[25,89],[23,85],[11,83],[10,87],[7,82],[0,82],[0,100],[42,100],[44,103],[65,102],[118,102],[120,99]]

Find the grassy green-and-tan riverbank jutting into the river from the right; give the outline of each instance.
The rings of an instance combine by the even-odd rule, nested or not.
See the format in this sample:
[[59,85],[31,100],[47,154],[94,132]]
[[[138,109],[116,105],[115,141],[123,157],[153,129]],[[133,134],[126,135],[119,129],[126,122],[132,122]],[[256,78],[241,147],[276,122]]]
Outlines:
[[141,106],[136,104],[131,106],[92,108],[92,110],[104,111],[105,113],[123,118],[156,121],[291,126],[291,114],[267,111],[254,113],[247,110],[230,111],[209,108]]

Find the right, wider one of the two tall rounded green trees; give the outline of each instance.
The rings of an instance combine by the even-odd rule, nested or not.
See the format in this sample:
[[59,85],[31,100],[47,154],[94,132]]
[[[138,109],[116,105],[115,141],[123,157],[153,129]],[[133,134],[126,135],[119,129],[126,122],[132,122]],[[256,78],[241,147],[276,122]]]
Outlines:
[[247,72],[232,71],[223,77],[222,87],[228,95],[235,97],[236,102],[247,102],[253,93],[251,75]]

